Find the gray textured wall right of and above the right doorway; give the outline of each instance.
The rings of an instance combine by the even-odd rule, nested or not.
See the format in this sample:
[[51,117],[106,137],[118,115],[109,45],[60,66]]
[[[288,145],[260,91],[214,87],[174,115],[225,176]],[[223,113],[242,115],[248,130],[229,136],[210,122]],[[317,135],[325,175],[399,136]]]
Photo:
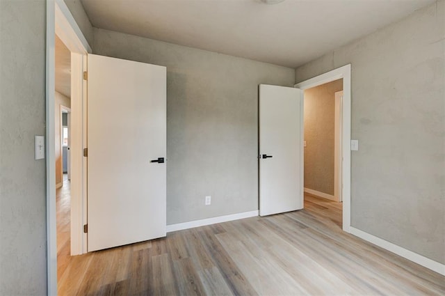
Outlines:
[[352,226],[445,263],[444,1],[296,69],[352,64]]

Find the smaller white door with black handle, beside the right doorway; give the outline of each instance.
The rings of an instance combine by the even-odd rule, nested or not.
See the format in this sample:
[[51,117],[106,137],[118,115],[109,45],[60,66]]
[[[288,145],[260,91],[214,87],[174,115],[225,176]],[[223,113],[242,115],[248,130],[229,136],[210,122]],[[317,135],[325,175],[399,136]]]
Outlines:
[[259,86],[259,215],[303,208],[303,96]]

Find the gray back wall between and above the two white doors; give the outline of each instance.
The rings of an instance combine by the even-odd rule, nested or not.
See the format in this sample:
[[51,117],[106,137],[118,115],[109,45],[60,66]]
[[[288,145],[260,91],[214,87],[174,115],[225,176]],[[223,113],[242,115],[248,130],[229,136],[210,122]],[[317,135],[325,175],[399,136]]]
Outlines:
[[258,84],[292,86],[294,70],[102,29],[94,38],[96,54],[167,66],[167,224],[258,210]]

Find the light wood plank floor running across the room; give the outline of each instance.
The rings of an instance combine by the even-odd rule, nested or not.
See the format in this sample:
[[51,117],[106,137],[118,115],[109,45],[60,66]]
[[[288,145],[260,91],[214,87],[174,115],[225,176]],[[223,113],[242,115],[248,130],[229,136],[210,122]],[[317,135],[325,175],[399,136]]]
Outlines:
[[445,295],[445,276],[343,233],[341,204],[312,196],[305,210],[74,257],[63,217],[59,295]]

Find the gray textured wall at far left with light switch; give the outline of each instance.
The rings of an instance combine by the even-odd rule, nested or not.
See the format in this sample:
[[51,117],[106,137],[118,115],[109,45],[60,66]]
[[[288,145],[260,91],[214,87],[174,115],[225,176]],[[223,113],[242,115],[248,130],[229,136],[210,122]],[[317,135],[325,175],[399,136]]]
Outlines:
[[47,293],[45,1],[0,1],[0,295]]

